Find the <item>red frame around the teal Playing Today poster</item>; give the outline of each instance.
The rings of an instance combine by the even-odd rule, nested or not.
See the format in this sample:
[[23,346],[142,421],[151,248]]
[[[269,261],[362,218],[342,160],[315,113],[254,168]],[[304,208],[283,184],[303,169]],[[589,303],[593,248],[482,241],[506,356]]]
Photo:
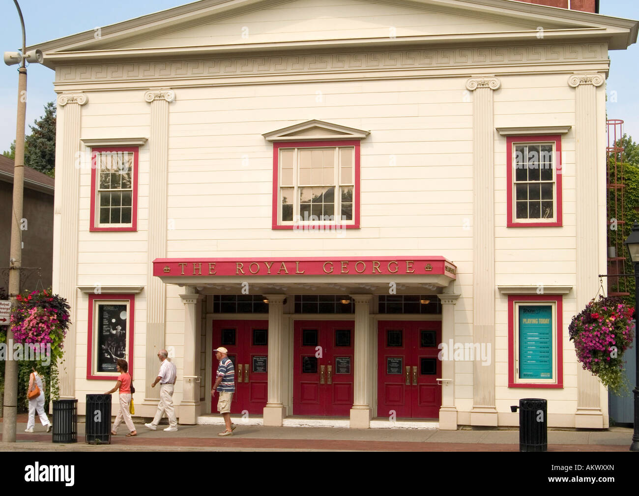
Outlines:
[[[557,360],[557,382],[535,384],[534,382],[515,382],[515,302],[554,302],[557,316],[557,341],[555,356]],[[564,387],[564,320],[561,295],[508,295],[508,387],[527,387],[532,389],[563,389]]]

